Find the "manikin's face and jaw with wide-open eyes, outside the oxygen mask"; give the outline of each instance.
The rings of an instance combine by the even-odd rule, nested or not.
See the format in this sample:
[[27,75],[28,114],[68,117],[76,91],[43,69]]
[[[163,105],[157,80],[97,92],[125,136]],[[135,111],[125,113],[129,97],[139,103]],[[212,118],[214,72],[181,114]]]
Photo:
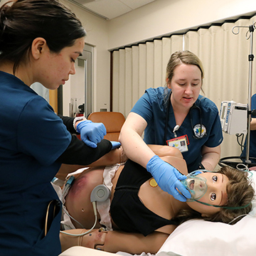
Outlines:
[[[204,178],[206,178],[206,184],[208,187],[206,193],[203,195],[203,197],[198,199],[198,201],[215,206],[224,206],[228,200],[228,195],[226,191],[228,177],[223,174],[218,174],[214,172],[206,172],[198,174],[198,176],[203,176]],[[196,201],[187,202],[187,204],[193,210],[196,210],[198,211],[198,213],[202,213],[202,215],[206,216],[217,213],[220,210],[220,208],[205,206],[202,203],[198,203]]]

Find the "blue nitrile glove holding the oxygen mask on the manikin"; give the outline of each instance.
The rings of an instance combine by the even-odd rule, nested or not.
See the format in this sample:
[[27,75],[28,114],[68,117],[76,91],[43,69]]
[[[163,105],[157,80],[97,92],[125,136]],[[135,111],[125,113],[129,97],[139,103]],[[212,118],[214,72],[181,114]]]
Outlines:
[[[160,186],[163,191],[168,192],[174,198],[181,202],[186,202],[186,198],[191,198],[191,193],[186,189],[185,186],[179,181],[186,179],[186,176],[181,174],[174,166],[166,163],[159,156],[153,156],[146,164],[146,170],[149,171],[156,183]],[[181,191],[183,196],[178,193]]]

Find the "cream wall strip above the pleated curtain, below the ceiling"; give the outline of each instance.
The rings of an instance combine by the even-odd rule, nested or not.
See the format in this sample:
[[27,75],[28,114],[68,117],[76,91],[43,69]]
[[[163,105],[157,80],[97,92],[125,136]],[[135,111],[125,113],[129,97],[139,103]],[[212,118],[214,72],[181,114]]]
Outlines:
[[108,48],[255,12],[255,0],[156,0],[108,21]]

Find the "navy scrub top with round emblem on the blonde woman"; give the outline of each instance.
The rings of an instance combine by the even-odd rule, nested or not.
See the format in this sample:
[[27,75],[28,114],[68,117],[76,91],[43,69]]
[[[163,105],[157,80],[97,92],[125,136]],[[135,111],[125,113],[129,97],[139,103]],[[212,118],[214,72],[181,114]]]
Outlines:
[[[168,92],[170,92],[170,90]],[[164,93],[164,87],[149,88],[131,110],[131,112],[139,114],[147,122],[144,131],[144,142],[146,142],[146,144],[166,145],[166,142],[164,142],[164,130],[166,124],[167,102],[169,100],[167,97],[168,95],[169,93]],[[176,131],[177,137],[183,135],[188,136],[188,151],[182,153],[188,166],[188,172],[198,169],[202,159],[201,149],[203,145],[215,147],[220,145],[223,141],[220,117],[215,103],[207,97],[199,95],[198,100],[196,100],[196,105],[201,108],[201,118],[198,109],[195,108],[191,110],[191,115],[188,114],[186,116],[181,127]],[[167,140],[174,139],[173,130],[176,126],[174,110],[171,104],[168,114]],[[202,124],[206,127],[207,135],[201,139],[196,139],[192,127],[195,127],[196,124],[200,124],[201,119]]]

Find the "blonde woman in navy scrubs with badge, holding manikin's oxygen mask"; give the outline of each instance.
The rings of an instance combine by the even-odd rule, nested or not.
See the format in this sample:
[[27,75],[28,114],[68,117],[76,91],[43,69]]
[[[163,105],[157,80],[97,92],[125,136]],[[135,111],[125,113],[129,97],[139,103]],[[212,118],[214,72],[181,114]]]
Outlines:
[[146,90],[128,114],[119,138],[129,159],[146,168],[164,191],[180,201],[189,196],[178,182],[184,177],[146,144],[178,148],[188,172],[215,168],[223,134],[218,108],[199,95],[202,84],[201,60],[188,50],[173,53],[166,68],[167,86]]

